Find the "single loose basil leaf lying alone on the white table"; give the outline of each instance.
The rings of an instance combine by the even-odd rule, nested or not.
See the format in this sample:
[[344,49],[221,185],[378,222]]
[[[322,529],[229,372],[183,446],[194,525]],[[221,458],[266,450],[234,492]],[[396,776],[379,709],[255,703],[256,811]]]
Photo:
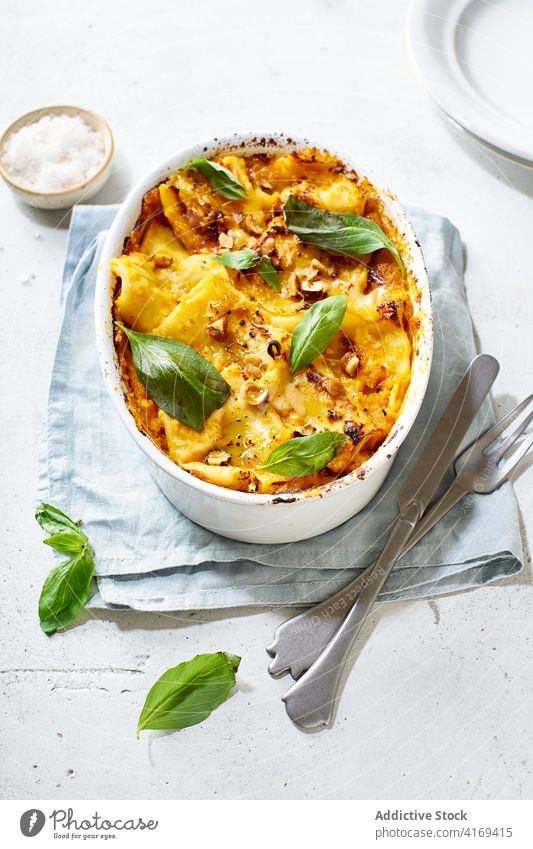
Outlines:
[[235,686],[241,659],[233,654],[197,654],[167,669],[146,697],[137,738],[145,729],[187,728],[206,719]]

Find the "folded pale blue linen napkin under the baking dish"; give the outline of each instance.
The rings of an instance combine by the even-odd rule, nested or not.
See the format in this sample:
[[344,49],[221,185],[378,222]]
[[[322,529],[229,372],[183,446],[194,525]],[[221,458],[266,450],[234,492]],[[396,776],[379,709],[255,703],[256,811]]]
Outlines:
[[[326,534],[261,546],[219,537],[175,510],[108,397],[96,356],[93,299],[101,231],[115,211],[73,210],[38,493],[83,518],[97,555],[99,593],[92,606],[163,611],[325,598],[378,555],[413,455],[476,353],[458,231],[445,218],[411,210],[431,281],[435,350],[422,409],[381,491],[363,512]],[[486,405],[472,433],[492,421]],[[457,505],[396,565],[380,599],[481,586],[519,571],[521,558],[516,500],[506,484]]]

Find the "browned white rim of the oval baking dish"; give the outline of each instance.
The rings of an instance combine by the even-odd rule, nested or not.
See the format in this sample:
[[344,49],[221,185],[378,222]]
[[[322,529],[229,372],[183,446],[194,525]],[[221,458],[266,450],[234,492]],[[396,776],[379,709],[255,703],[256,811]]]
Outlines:
[[[144,193],[165,180],[174,171],[184,167],[188,161],[201,155],[216,155],[225,150],[228,152],[238,152],[240,149],[241,151],[246,150],[247,153],[265,153],[268,150],[281,152],[283,150],[298,150],[305,147],[314,147],[338,156],[347,167],[353,168],[356,173],[361,173],[368,178],[377,190],[380,198],[386,202],[387,214],[394,211],[398,219],[398,221],[394,222],[395,226],[398,227],[398,223],[401,222],[399,232],[409,249],[409,255],[407,256],[408,266],[421,293],[420,309],[424,314],[424,321],[421,323],[423,332],[418,337],[419,351],[414,361],[414,364],[418,366],[416,373],[418,385],[415,385],[417,391],[415,395],[413,392],[412,369],[411,382],[402,405],[402,411],[387,438],[365,463],[344,477],[310,489],[286,490],[279,493],[252,493],[225,489],[224,487],[197,478],[190,472],[182,469],[147,434],[138,429],[133,414],[127,404],[125,387],[114,344],[111,309],[114,287],[112,285],[113,279],[109,269],[109,261],[117,256],[118,245],[122,247],[125,237],[134,226],[139,216],[140,204]],[[411,222],[403,207],[396,199],[396,196],[375,179],[371,170],[364,167],[362,163],[355,162],[351,157],[346,156],[346,154],[337,151],[331,145],[328,144],[326,147],[323,144],[317,143],[314,139],[279,131],[270,133],[251,131],[247,133],[233,133],[224,136],[214,136],[207,141],[188,145],[158,163],[135,184],[117,210],[117,214],[102,246],[96,279],[95,325],[98,358],[104,381],[122,423],[136,444],[162,471],[180,483],[199,490],[205,495],[219,501],[229,501],[249,506],[276,506],[277,504],[305,502],[310,498],[325,498],[349,487],[364,485],[365,480],[372,472],[385,463],[390,462],[395,456],[414,424],[425,396],[433,353],[431,292],[427,270],[422,250]],[[406,401],[409,402],[407,409]]]

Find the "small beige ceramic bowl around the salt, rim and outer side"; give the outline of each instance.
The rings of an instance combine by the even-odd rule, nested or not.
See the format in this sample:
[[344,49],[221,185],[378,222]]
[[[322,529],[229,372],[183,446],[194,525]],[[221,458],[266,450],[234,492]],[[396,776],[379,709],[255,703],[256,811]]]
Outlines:
[[[66,189],[59,189],[53,192],[43,192],[37,189],[27,188],[22,183],[19,183],[18,180],[14,179],[2,164],[5,144],[13,133],[16,133],[22,127],[35,123],[46,115],[72,115],[83,118],[90,127],[101,133],[105,145],[102,162],[91,177],[85,179],[82,183],[77,183]],[[74,206],[75,203],[87,200],[102,188],[111,172],[113,151],[113,134],[107,122],[96,112],[91,112],[89,109],[82,109],[80,106],[45,106],[43,109],[34,109],[32,112],[27,112],[26,115],[17,118],[0,137],[0,175],[4,178],[13,193],[24,203],[39,207],[40,209],[66,209],[67,207]]]

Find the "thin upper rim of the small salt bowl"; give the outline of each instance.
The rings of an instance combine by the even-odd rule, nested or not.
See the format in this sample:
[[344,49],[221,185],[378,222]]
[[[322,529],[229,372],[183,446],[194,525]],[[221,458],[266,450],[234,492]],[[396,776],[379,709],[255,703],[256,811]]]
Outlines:
[[[94,172],[90,177],[85,180],[82,180],[81,183],[74,183],[72,186],[69,186],[67,189],[53,189],[52,191],[39,191],[38,189],[30,189],[25,186],[23,183],[17,182],[17,180],[13,179],[6,171],[2,164],[2,152],[4,149],[4,145],[12,135],[13,132],[17,132],[21,130],[23,127],[27,127],[32,123],[35,123],[34,119],[43,118],[46,115],[58,115],[61,112],[76,112],[81,115],[90,115],[96,123],[100,126],[103,131],[106,145],[106,152],[103,159],[102,164],[98,167],[98,170]],[[30,112],[25,112],[24,115],[20,115],[18,118],[15,118],[14,121],[9,124],[8,127],[4,130],[2,135],[0,136],[0,176],[6,181],[6,183],[11,186],[11,188],[16,189],[18,192],[22,192],[25,195],[30,195],[31,197],[47,197],[47,198],[60,198],[66,197],[67,195],[72,194],[73,192],[79,192],[82,189],[86,189],[87,186],[90,186],[91,183],[98,180],[99,177],[105,172],[106,168],[109,167],[113,154],[115,152],[115,140],[113,138],[113,133],[111,132],[111,127],[98,112],[94,112],[92,109],[86,109],[84,106],[76,106],[74,104],[68,103],[58,103],[53,104],[52,106],[43,106],[40,109],[32,109]]]

